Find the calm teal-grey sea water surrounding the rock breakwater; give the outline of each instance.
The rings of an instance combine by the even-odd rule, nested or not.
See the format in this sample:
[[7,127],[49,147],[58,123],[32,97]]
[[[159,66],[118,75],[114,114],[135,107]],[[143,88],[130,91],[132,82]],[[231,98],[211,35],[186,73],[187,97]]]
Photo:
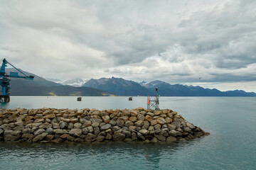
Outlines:
[[[0,108],[146,108],[146,97],[11,97]],[[210,132],[183,143],[94,145],[0,142],[0,169],[256,169],[256,98],[161,97]]]

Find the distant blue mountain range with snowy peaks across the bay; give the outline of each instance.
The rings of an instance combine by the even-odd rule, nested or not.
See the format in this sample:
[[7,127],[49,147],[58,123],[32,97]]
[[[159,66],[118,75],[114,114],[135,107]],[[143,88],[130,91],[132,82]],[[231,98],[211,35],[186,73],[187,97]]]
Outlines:
[[[14,69],[6,69],[6,73]],[[186,86],[169,84],[164,81],[136,82],[122,78],[101,78],[88,81],[80,78],[61,81],[58,79],[43,79],[35,74],[35,78],[11,79],[10,92],[12,96],[147,96],[156,94],[156,87],[160,96],[256,96],[254,92],[219,91],[205,89],[201,86]]]

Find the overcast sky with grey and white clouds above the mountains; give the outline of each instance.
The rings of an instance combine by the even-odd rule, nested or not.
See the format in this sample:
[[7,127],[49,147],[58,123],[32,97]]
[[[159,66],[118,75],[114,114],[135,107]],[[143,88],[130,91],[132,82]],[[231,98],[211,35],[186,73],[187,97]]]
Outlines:
[[256,1],[1,0],[0,56],[51,79],[256,92]]

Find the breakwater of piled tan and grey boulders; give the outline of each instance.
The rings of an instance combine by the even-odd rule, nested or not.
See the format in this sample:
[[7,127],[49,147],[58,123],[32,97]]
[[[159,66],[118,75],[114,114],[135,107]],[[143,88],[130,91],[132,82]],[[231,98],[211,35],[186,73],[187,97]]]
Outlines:
[[0,140],[17,142],[174,142],[209,135],[169,109],[1,109]]

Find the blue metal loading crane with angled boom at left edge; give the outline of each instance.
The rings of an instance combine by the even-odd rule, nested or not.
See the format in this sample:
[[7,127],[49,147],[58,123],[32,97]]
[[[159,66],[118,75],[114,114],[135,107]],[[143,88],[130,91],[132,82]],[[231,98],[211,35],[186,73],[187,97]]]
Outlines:
[[1,64],[1,70],[0,70],[0,85],[2,87],[2,94],[0,95],[0,102],[9,102],[10,101],[10,93],[9,93],[9,85],[11,79],[9,78],[21,78],[21,79],[30,79],[33,80],[33,76],[27,76],[25,73],[23,73],[20,69],[16,69],[19,73],[21,73],[22,76],[18,75],[18,72],[10,72],[10,75],[6,74],[5,67],[7,67],[7,64],[10,64],[11,67],[14,67],[13,64],[7,62],[6,59],[3,60],[3,64]]

